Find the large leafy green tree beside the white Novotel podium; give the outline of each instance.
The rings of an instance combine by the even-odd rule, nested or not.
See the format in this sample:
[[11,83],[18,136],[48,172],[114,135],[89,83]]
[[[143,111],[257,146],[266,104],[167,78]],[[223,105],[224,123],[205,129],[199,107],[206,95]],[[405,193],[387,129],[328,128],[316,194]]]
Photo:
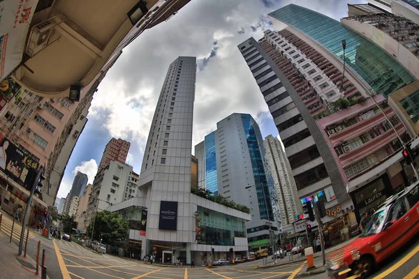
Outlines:
[[96,212],[95,218],[91,219],[87,233],[91,236],[94,224],[93,239],[102,239],[105,243],[124,241],[128,236],[128,222],[122,220],[118,213],[107,210]]

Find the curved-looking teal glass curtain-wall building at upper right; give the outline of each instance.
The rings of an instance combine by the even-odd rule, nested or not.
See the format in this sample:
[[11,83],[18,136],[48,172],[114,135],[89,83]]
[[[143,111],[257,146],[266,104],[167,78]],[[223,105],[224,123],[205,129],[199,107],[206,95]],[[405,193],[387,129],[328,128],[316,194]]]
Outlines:
[[[358,73],[374,91],[385,97],[415,80],[385,50],[330,17],[294,4],[275,10],[269,16],[300,31],[344,59],[347,66]],[[346,40],[345,57],[342,40]]]

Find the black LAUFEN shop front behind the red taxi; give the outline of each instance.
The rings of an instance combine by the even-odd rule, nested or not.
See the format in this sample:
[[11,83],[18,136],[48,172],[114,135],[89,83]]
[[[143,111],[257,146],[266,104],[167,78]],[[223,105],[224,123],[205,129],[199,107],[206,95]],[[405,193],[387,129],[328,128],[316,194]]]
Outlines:
[[378,206],[385,202],[385,199],[393,194],[392,184],[388,177],[388,174],[383,174],[374,181],[368,183],[362,188],[353,191],[351,197],[355,206],[355,216],[360,222],[362,213],[367,213],[371,216]]

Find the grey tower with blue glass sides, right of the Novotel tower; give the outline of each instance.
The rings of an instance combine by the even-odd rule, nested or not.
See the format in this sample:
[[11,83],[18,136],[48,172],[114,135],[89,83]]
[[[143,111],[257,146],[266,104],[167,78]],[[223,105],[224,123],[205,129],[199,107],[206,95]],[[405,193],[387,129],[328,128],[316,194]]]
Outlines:
[[205,188],[213,195],[249,207],[251,221],[246,225],[249,246],[258,250],[270,241],[266,223],[274,222],[275,231],[281,223],[277,191],[265,160],[258,123],[249,114],[235,113],[219,121],[216,127],[205,136]]

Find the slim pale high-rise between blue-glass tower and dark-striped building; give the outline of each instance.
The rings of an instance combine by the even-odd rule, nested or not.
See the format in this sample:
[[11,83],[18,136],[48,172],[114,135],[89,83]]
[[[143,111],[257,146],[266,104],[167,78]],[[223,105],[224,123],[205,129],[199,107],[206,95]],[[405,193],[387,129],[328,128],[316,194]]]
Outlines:
[[297,194],[297,186],[293,178],[291,165],[286,158],[281,142],[272,135],[264,140],[267,163],[270,165],[272,177],[277,190],[278,206],[281,212],[281,225],[290,225],[297,220],[302,206]]

